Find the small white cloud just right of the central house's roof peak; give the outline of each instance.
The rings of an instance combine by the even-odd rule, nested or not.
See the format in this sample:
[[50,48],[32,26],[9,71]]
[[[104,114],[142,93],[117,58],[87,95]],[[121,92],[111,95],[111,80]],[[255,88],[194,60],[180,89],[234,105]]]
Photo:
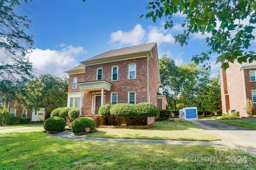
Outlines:
[[158,29],[157,27],[151,27],[147,35],[147,42],[157,42],[157,44],[175,43],[174,38],[171,34],[166,34],[166,30]]

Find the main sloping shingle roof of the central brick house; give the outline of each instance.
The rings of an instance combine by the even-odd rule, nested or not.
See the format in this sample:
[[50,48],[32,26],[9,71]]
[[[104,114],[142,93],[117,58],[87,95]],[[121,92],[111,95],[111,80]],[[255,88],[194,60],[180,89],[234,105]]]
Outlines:
[[93,56],[90,59],[82,61],[81,63],[86,62],[86,61],[92,61],[92,60],[110,58],[110,57],[114,57],[114,56],[120,56],[120,55],[128,55],[128,54],[134,54],[134,53],[148,52],[155,46],[155,44],[156,43],[153,42],[153,43],[148,43],[148,44],[141,44],[141,45],[119,48],[119,49],[116,49],[116,50],[110,50],[110,51],[107,51],[105,53]]

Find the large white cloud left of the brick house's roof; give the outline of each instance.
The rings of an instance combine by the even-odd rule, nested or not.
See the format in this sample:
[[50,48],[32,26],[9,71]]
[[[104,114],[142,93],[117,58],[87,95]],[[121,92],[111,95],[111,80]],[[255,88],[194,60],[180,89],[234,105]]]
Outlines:
[[86,53],[83,47],[73,45],[67,46],[61,44],[61,50],[42,50],[33,49],[27,54],[30,62],[33,63],[33,68],[36,69],[36,76],[40,74],[53,74],[55,76],[64,76],[65,72],[72,67],[77,66],[76,56]]

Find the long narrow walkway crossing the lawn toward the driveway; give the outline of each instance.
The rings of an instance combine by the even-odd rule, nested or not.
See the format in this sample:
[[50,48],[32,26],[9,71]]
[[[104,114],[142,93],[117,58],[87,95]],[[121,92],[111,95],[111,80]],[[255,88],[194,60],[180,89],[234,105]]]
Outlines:
[[146,139],[114,139],[103,137],[75,136],[71,131],[50,134],[50,136],[61,137],[64,139],[108,141],[108,142],[128,142],[128,143],[161,143],[161,144],[187,144],[187,145],[207,145],[214,147],[234,148],[234,145],[224,141],[200,142],[200,141],[170,141],[170,140],[146,140]]

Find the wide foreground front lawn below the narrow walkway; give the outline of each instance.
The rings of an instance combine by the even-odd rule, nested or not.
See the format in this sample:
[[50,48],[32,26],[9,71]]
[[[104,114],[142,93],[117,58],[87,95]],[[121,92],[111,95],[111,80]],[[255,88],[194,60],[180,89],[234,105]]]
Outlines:
[[256,158],[242,151],[207,146],[59,139],[40,132],[0,134],[0,141],[0,169],[6,170],[256,168]]

